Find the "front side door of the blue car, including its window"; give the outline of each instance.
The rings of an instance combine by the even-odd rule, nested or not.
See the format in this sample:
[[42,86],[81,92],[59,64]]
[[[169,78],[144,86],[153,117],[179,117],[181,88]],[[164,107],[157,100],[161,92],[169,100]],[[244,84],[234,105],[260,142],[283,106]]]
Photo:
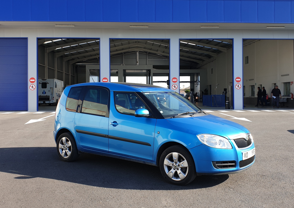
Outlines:
[[152,161],[156,119],[135,117],[146,108],[133,92],[112,92],[109,114],[109,153]]

